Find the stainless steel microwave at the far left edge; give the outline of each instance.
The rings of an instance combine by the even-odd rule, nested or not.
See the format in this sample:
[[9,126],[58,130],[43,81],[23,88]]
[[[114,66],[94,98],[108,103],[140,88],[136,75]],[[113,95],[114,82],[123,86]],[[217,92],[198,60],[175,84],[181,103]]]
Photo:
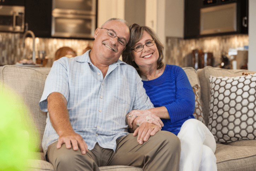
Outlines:
[[24,6],[0,5],[0,31],[24,31]]

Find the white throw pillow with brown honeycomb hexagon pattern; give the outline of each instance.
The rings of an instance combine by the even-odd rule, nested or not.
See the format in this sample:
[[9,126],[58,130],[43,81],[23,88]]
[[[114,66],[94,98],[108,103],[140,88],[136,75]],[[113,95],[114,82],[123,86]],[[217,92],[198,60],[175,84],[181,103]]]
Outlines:
[[256,139],[256,74],[209,79],[208,128],[216,142]]

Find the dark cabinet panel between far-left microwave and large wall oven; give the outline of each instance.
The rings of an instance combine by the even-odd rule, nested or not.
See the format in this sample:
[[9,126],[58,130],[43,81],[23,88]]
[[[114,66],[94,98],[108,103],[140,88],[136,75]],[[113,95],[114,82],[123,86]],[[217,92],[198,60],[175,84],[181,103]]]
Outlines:
[[25,29],[36,37],[51,37],[52,0],[25,1]]

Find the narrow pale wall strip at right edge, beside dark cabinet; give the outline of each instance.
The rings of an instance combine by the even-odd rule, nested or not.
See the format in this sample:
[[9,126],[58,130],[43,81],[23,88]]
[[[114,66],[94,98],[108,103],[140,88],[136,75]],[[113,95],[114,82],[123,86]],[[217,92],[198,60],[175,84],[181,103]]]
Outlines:
[[256,71],[256,1],[249,0],[249,52],[248,69]]

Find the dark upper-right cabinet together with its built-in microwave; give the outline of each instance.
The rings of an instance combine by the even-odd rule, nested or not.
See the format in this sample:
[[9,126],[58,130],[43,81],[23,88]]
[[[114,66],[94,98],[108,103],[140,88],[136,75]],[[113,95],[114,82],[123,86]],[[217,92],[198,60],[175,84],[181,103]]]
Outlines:
[[185,0],[185,39],[228,34],[248,34],[248,0]]

